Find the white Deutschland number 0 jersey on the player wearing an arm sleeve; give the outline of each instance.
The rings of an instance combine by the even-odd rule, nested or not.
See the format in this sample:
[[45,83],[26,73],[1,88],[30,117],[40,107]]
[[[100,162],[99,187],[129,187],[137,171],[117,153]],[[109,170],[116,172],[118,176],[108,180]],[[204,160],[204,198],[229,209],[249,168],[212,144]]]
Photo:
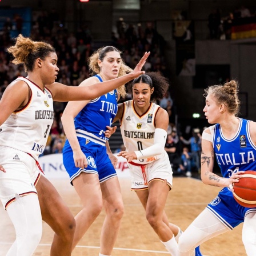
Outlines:
[[[134,109],[133,100],[123,102],[120,128],[126,151],[143,150],[154,144],[154,122],[159,108],[157,104],[150,103],[149,109],[143,115],[139,115]],[[157,155],[147,159],[133,160],[133,162],[145,165],[161,157],[162,155]]]

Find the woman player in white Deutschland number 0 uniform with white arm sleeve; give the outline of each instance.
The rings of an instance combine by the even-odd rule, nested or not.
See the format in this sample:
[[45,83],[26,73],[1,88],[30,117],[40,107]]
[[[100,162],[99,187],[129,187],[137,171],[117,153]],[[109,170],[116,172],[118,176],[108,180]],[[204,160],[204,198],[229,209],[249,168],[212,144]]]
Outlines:
[[[126,151],[119,155],[127,159],[131,189],[136,191],[146,210],[147,221],[163,245],[176,256],[181,230],[169,223],[164,210],[173,185],[173,171],[165,151],[169,115],[151,102],[161,99],[168,87],[166,78],[159,73],[147,73],[134,79],[133,100],[118,105],[114,121],[120,121]],[[199,253],[199,249],[197,251]]]

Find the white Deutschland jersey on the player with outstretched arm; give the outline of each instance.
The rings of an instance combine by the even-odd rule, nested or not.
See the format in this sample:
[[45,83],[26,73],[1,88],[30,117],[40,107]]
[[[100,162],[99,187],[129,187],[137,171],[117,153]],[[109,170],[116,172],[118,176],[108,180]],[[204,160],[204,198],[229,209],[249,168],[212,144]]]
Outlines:
[[14,111],[0,126],[0,145],[29,153],[38,160],[53,124],[53,97],[49,90],[42,91],[29,79],[18,77],[17,80],[27,83],[31,96],[25,107]]

